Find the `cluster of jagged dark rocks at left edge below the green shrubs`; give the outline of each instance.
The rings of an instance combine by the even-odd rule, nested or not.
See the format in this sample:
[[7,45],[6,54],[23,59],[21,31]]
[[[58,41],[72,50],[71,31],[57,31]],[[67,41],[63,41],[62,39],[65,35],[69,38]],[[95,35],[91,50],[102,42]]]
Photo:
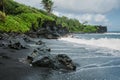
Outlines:
[[0,47],[10,48],[10,49],[27,49],[28,45],[26,42],[31,41],[30,38],[24,34],[14,34],[14,33],[0,33]]

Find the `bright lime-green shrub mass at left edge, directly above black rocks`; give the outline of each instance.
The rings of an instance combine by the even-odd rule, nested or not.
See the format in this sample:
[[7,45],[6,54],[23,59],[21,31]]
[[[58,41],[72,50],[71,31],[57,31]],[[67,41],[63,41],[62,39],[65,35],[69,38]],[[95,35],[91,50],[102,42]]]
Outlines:
[[0,30],[5,32],[26,32],[29,28],[24,24],[24,22],[14,16],[7,16],[5,23],[0,22]]

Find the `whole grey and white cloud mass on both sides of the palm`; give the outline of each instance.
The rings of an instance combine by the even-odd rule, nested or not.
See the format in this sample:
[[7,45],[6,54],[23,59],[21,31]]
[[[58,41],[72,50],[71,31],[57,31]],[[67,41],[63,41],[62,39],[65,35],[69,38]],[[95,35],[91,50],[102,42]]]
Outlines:
[[[41,0],[15,0],[33,7],[42,8]],[[88,21],[90,24],[106,24],[109,22],[105,13],[117,9],[120,0],[53,0],[57,16],[67,16]],[[104,13],[104,14],[103,14]]]

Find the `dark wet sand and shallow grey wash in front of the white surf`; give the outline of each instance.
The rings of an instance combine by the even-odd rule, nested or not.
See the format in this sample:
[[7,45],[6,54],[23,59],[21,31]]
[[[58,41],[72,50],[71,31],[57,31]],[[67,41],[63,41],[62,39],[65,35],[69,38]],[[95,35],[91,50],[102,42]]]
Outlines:
[[[64,53],[77,64],[76,71],[31,67],[20,59],[33,48],[12,50],[0,48],[0,80],[120,80],[120,57],[95,53],[84,45],[59,40],[44,40],[51,54]],[[31,44],[32,45],[32,44]],[[94,51],[94,53],[93,53]]]

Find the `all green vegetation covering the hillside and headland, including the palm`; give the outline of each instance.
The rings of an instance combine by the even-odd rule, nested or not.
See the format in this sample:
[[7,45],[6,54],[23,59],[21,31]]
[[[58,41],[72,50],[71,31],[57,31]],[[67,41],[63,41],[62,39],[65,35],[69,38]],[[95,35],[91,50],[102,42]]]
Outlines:
[[54,14],[47,15],[52,10],[53,2],[49,2],[49,5],[44,4],[44,7],[45,6],[48,7],[45,8],[47,12],[19,4],[13,0],[6,0],[4,2],[5,12],[3,12],[3,8],[1,8],[0,3],[0,31],[24,33],[29,31],[31,27],[41,27],[44,20],[55,20],[57,24],[61,24],[63,27],[67,27],[70,32],[97,31],[96,27],[82,24],[77,19],[69,19],[65,16],[57,17]]

